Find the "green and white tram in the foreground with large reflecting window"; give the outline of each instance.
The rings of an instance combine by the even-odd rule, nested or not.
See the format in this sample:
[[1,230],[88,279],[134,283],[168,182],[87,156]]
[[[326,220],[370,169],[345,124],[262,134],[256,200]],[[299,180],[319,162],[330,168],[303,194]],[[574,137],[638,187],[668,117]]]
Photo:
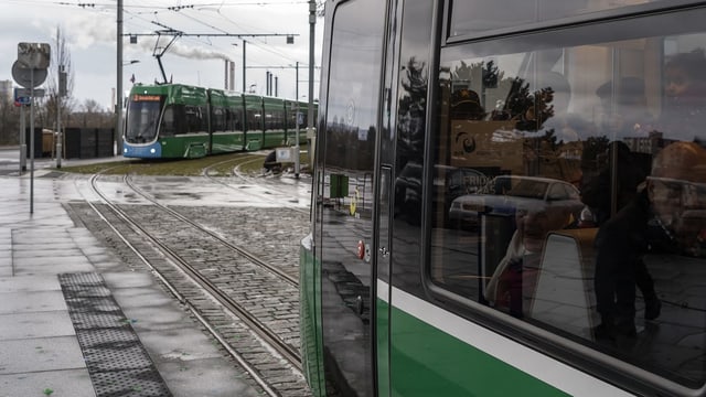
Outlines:
[[314,395],[706,395],[705,50],[699,1],[327,1]]

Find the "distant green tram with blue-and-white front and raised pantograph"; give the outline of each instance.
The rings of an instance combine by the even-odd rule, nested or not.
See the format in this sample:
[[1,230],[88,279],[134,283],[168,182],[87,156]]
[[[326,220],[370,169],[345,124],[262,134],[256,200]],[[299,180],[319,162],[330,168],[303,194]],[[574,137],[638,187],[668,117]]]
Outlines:
[[[307,108],[301,101],[184,84],[136,84],[128,98],[122,155],[202,158],[295,144],[297,121],[303,130]],[[299,143],[306,142],[302,131]]]

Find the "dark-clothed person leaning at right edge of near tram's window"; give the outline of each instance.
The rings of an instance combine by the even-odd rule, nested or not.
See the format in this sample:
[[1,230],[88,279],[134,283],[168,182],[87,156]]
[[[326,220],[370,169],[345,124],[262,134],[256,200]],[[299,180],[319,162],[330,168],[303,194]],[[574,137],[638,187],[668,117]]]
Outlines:
[[603,224],[596,236],[596,303],[601,323],[596,339],[635,336],[635,286],[644,318],[654,320],[661,302],[642,258],[650,251],[702,255],[706,237],[706,149],[674,142],[652,162],[635,198]]

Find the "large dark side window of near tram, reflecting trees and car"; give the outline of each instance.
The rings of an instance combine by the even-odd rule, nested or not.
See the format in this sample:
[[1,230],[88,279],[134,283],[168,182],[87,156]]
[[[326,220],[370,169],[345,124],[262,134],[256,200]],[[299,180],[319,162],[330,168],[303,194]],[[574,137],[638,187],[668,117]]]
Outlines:
[[595,25],[441,50],[434,291],[704,385],[706,11],[691,12],[614,42],[587,42],[612,29]]

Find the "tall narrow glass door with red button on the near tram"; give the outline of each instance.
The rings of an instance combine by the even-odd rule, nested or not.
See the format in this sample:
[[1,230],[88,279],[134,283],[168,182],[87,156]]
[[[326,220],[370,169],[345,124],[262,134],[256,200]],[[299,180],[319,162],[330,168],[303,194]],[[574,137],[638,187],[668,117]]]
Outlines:
[[[321,341],[329,395],[375,395],[378,260],[373,176],[378,122],[385,3],[335,3],[330,64],[322,78],[319,132]],[[325,83],[323,83],[325,82]],[[389,185],[391,172],[386,172]],[[387,191],[387,189],[385,189]],[[318,193],[319,194],[319,193]],[[384,215],[381,215],[384,216]]]

